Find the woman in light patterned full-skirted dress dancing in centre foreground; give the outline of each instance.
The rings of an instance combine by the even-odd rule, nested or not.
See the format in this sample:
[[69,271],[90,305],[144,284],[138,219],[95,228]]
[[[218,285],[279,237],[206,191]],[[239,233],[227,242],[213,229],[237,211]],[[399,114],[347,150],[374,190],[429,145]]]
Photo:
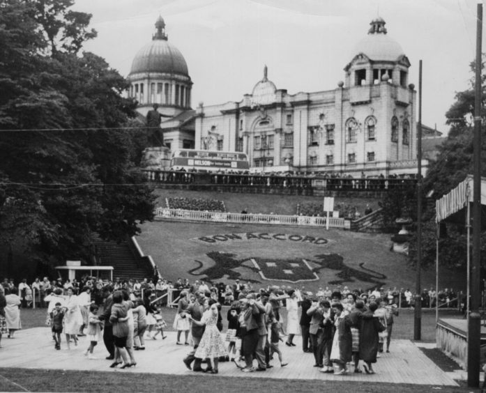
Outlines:
[[[218,303],[213,299],[208,300],[209,309],[202,314],[201,321],[192,319],[192,323],[203,326],[204,334],[202,335],[199,346],[196,349],[195,357],[199,359],[208,359],[209,365],[204,372],[218,373],[218,359],[221,356],[227,356],[225,341],[223,341],[220,331],[216,324],[218,323]],[[190,318],[190,315],[188,315]]]

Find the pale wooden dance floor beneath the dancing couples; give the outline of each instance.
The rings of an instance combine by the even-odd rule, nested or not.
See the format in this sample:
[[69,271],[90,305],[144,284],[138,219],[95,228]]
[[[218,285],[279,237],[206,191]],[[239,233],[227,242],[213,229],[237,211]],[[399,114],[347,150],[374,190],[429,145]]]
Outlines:
[[[105,360],[107,352],[102,342],[95,347],[94,355],[97,360],[88,360],[82,352],[88,343],[85,337],[79,338],[79,346],[71,346],[66,350],[66,343],[62,343],[61,350],[54,349],[54,341],[48,327],[36,327],[20,330],[14,339],[3,336],[0,349],[0,367],[19,367],[24,369],[69,369],[86,371],[113,371],[117,373],[162,373],[188,375],[194,373],[186,369],[182,360],[190,351],[189,346],[176,345],[176,333],[167,332],[167,339],[146,340],[146,350],[135,351],[137,367],[118,370],[110,369],[111,363]],[[279,379],[307,379],[307,380],[349,380],[386,383],[412,383],[421,385],[449,385],[458,386],[448,373],[429,360],[427,356],[409,340],[392,340],[390,353],[383,353],[374,366],[376,374],[349,373],[347,376],[333,376],[321,373],[317,367],[312,367],[314,357],[310,353],[303,353],[301,338],[296,337],[297,346],[288,347],[280,343],[280,349],[287,367],[280,367],[277,355],[271,362],[272,369],[265,372],[243,373],[232,362],[221,362],[218,376],[250,377],[250,378],[279,378]],[[256,362],[255,362],[256,364]],[[211,378],[218,377],[211,376]]]

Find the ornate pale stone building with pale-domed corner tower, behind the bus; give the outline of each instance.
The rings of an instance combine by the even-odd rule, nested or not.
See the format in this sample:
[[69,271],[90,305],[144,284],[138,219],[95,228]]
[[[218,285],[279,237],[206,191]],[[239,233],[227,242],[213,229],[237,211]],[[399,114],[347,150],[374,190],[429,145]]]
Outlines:
[[333,90],[291,95],[268,80],[265,66],[243,100],[199,105],[196,148],[247,153],[252,171],[415,174],[416,91],[385,24],[372,20]]

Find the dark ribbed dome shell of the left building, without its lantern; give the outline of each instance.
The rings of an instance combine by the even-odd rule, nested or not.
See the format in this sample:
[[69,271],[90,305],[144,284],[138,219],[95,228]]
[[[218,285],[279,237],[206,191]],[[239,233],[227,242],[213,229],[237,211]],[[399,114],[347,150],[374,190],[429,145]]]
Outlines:
[[184,56],[167,40],[153,40],[137,52],[130,74],[138,72],[168,72],[189,76]]

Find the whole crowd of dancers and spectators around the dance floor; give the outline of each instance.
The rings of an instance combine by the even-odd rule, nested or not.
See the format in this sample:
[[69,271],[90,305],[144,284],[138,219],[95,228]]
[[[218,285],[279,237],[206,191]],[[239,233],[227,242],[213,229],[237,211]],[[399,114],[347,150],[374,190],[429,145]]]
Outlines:
[[[380,354],[390,350],[398,305],[407,307],[413,302],[410,291],[397,288],[351,291],[347,286],[326,286],[311,293],[303,287],[254,288],[239,280],[234,284],[154,281],[102,282],[84,276],[79,282],[36,279],[31,286],[24,279],[16,287],[13,280],[4,280],[0,286],[0,339],[1,334],[14,337],[22,327],[20,309],[29,306],[28,289],[36,288],[41,295],[34,299],[47,307],[46,325],[52,330],[56,350],[69,350],[79,344],[79,337],[86,336],[84,355],[88,359],[96,359],[96,346],[103,341],[110,367],[133,367],[137,364],[135,351],[145,349],[146,339],[157,339],[158,334],[161,339],[167,337],[160,297],[170,290],[177,304],[172,325],[177,332],[175,344],[192,346],[183,359],[188,369],[218,373],[219,362],[231,361],[245,373],[266,371],[273,367],[275,354],[280,367],[285,367],[288,360],[279,345],[296,346],[295,337],[301,336],[303,352],[313,356],[319,371],[374,373]],[[436,295],[433,288],[425,293],[430,298]],[[444,300],[454,295],[448,290],[441,293]],[[285,321],[283,308],[287,310]]]

